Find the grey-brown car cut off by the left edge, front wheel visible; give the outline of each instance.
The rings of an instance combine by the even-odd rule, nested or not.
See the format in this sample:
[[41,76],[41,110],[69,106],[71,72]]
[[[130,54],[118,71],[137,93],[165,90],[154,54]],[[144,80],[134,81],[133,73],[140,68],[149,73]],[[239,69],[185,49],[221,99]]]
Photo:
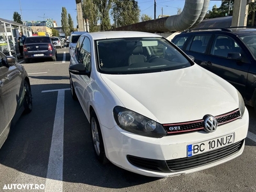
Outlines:
[[10,127],[22,113],[32,110],[29,77],[25,68],[12,56],[0,51],[0,148]]

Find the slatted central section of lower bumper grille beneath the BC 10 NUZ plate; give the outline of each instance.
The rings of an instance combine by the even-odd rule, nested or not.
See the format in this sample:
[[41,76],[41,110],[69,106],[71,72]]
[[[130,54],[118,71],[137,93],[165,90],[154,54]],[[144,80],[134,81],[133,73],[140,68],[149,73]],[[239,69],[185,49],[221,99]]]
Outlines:
[[213,163],[224,159],[225,157],[231,156],[238,152],[243,146],[244,140],[228,145],[227,147],[218,148],[204,154],[199,154],[197,156],[185,157],[182,159],[168,160],[168,168],[172,172],[179,172],[182,170],[189,170],[191,168],[196,168],[205,164]]

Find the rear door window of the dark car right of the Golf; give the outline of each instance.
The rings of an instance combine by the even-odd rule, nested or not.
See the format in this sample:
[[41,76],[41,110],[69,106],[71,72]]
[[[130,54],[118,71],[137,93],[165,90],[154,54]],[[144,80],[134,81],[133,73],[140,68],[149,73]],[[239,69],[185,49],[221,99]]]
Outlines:
[[196,35],[193,40],[189,42],[187,51],[205,53],[207,44],[211,38],[211,35]]

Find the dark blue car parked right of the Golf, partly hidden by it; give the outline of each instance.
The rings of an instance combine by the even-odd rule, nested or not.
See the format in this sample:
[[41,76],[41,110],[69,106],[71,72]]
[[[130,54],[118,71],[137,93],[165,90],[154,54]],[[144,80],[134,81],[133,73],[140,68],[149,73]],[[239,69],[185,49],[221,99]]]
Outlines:
[[194,56],[198,65],[233,84],[256,109],[256,29],[191,29],[172,42]]

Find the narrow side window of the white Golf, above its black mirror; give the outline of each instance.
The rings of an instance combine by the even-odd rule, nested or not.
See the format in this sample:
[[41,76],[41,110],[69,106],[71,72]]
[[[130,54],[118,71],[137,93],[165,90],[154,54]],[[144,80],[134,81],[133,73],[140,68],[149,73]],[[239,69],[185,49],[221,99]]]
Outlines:
[[81,63],[84,64],[87,71],[91,71],[91,42],[87,37],[84,38],[83,45],[81,46],[79,61],[82,61]]

